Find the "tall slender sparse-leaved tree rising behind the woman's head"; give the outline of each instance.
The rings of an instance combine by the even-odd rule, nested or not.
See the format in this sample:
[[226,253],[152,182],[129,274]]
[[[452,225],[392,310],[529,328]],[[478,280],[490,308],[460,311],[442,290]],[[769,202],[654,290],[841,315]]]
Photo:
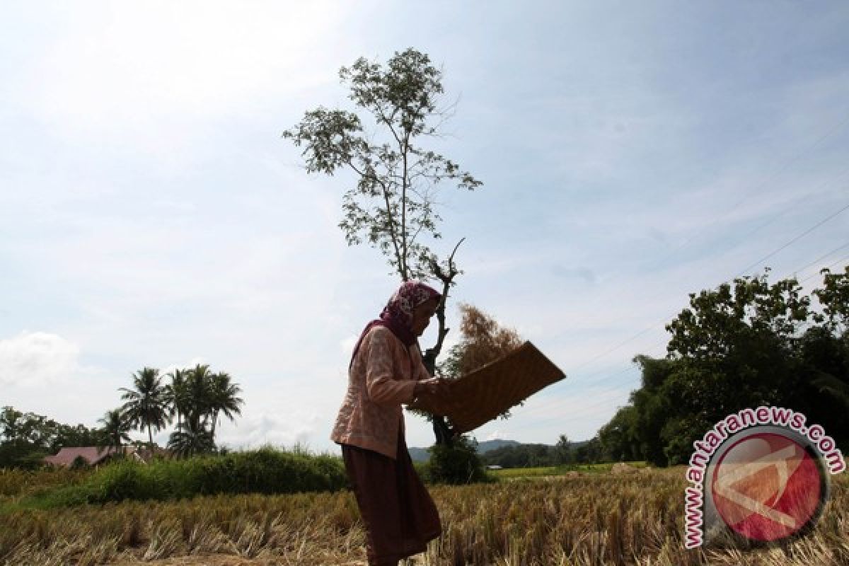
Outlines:
[[[411,277],[441,281],[436,344],[423,355],[433,375],[448,333],[445,301],[459,274],[453,262],[459,244],[441,263],[423,238],[441,238],[436,212],[439,183],[469,190],[482,183],[424,145],[440,134],[447,118],[447,110],[439,107],[442,72],[425,53],[408,48],[385,65],[360,58],[340,69],[340,79],[349,87],[358,114],[323,107],[309,110],[283,137],[303,148],[307,173],[352,175],[339,225],[349,245],[368,242],[379,249],[402,281]],[[449,442],[442,419],[434,418],[433,423],[437,442]]]

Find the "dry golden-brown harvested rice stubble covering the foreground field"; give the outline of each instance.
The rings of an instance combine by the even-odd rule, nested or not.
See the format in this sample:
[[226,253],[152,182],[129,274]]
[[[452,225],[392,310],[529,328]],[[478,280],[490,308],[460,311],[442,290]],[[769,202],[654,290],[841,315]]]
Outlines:
[[[414,563],[849,563],[849,474],[835,478],[829,507],[811,535],[783,547],[751,552],[735,548],[685,551],[684,486],[681,468],[433,486],[430,492],[440,511],[443,534]],[[350,564],[363,561],[363,544],[356,502],[346,490],[207,495],[0,513],[3,566],[125,563],[211,554],[257,559],[257,563]]]

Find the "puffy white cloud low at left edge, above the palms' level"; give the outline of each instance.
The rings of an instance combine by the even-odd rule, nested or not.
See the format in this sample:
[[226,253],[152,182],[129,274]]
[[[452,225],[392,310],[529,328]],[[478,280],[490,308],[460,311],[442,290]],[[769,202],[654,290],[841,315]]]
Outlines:
[[58,334],[24,331],[0,340],[0,384],[48,387],[79,373],[80,348]]

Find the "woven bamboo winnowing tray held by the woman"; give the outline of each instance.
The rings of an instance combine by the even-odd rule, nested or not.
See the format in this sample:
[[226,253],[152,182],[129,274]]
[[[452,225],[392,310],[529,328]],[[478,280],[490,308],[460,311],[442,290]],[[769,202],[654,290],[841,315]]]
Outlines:
[[464,433],[565,377],[536,346],[526,342],[462,378],[449,380],[444,399],[419,397],[410,407],[448,417],[453,429]]

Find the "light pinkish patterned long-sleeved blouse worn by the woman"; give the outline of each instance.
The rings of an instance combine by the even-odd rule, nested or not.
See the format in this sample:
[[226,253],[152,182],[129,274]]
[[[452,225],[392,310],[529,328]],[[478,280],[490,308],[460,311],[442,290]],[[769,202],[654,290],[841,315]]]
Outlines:
[[330,440],[395,459],[398,434],[404,431],[401,404],[412,402],[416,381],[427,378],[417,346],[411,346],[408,354],[389,328],[372,328],[351,364],[345,401]]

